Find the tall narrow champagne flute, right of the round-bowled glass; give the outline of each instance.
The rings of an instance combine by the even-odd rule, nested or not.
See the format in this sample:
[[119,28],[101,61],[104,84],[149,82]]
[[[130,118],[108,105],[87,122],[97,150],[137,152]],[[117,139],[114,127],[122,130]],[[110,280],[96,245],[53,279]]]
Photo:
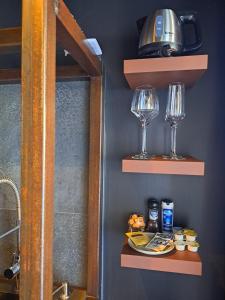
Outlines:
[[184,94],[185,87],[183,83],[178,82],[169,85],[165,120],[171,127],[171,152],[170,156],[165,158],[174,160],[185,159],[176,153],[177,125],[185,117]]

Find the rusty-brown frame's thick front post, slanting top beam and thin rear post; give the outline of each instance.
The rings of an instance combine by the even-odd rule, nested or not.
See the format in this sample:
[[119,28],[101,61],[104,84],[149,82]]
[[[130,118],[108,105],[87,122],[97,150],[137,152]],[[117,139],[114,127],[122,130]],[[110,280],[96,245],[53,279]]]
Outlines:
[[98,299],[102,71],[62,0],[23,0],[20,299],[52,299],[56,32],[91,81],[87,299]]

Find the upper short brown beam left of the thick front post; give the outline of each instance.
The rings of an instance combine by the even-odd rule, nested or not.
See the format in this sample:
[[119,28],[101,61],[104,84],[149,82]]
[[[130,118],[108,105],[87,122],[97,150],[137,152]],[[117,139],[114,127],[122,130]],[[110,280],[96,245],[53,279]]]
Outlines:
[[20,52],[21,27],[0,29],[0,54]]

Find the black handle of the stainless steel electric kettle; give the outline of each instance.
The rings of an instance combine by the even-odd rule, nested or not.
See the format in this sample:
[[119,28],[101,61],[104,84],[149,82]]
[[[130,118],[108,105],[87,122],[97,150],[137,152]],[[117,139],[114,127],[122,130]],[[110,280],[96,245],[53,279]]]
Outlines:
[[182,23],[182,26],[184,26],[185,24],[192,24],[194,26],[194,33],[195,33],[195,42],[190,45],[184,45],[182,49],[182,53],[189,53],[198,50],[202,46],[202,36],[201,36],[200,25],[196,18],[196,14],[192,13],[188,15],[183,15],[180,16],[179,18]]

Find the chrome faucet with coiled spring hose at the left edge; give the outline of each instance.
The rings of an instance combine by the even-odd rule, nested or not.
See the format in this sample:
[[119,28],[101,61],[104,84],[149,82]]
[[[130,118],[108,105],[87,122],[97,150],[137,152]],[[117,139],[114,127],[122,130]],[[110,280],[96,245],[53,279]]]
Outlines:
[[11,267],[5,270],[4,276],[8,279],[12,279],[17,276],[20,272],[20,224],[21,224],[21,205],[20,205],[20,194],[16,184],[8,177],[0,178],[0,184],[8,184],[15,193],[17,201],[17,224],[14,228],[0,235],[0,240],[9,234],[17,231],[17,251],[13,254],[13,262]]

